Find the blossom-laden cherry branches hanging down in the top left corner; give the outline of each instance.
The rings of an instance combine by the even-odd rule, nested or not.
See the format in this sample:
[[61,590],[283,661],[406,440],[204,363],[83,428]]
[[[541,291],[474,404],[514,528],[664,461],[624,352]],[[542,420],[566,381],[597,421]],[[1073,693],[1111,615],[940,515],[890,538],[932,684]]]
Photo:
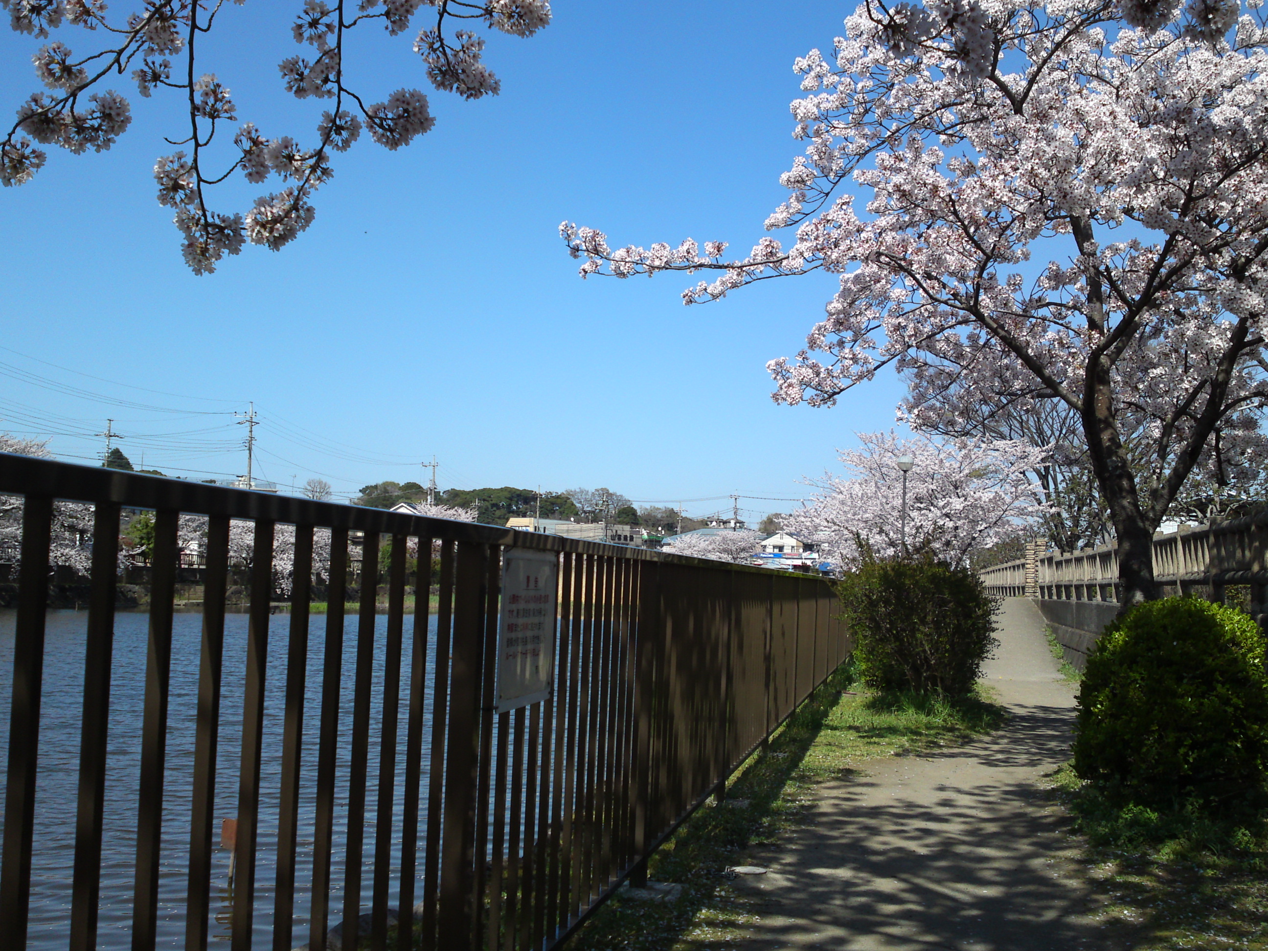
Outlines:
[[[251,29],[232,19],[224,0],[146,0],[122,16],[108,16],[103,0],[0,0],[0,6],[19,33],[43,41],[77,28],[76,42],[90,48],[75,53],[58,38],[36,51],[36,76],[48,91],[33,93],[0,138],[0,183],[24,184],[44,165],[47,155],[36,143],[75,155],[113,146],[132,122],[132,107],[105,87],[112,77],[133,81],[143,99],[171,94],[181,103],[184,128],[167,137],[179,151],[158,157],[155,181],[158,203],[175,212],[195,274],[216,270],[246,242],[276,251],[308,228],[312,194],[333,174],[331,153],[346,152],[363,129],[396,150],[435,126],[417,89],[398,89],[378,103],[355,91],[344,58],[354,29],[382,24],[398,36],[412,29],[420,8],[429,8],[413,39],[427,80],[479,99],[496,95],[501,84],[482,60],[483,37],[470,27],[530,37],[550,22],[547,0],[303,0],[290,34],[307,49],[281,58],[280,82],[297,99],[327,100],[330,108],[317,119],[314,138],[302,143],[302,137],[270,137],[251,122],[238,124],[230,89],[218,74],[203,72],[195,51],[202,55],[208,34]],[[224,142],[228,137],[232,142]],[[252,184],[276,176],[280,188],[245,213],[213,210],[212,188],[237,172]]]

